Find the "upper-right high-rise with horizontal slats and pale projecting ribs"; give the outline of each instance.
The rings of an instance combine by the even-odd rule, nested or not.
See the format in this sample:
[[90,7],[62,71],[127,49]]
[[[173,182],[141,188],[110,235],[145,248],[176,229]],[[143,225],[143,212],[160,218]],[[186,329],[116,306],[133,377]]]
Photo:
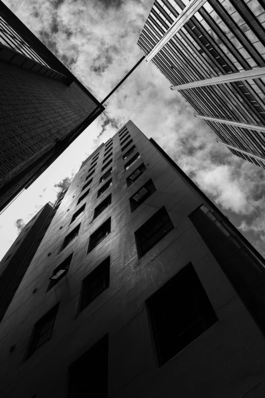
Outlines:
[[265,167],[265,4],[156,0],[138,45],[234,155]]

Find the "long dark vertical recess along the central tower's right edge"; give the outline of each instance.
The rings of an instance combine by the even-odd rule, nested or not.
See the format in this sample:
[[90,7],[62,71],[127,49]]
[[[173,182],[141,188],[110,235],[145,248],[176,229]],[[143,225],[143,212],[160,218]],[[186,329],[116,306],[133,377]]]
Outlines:
[[206,206],[193,211],[189,219],[265,335],[263,262],[245,248],[233,232],[229,232],[232,231],[230,227],[225,228],[226,220],[218,221]]

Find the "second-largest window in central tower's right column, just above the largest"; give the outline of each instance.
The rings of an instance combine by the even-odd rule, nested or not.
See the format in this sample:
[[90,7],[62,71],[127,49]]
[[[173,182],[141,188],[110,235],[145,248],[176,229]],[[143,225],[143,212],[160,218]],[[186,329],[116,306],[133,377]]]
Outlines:
[[144,256],[172,229],[174,225],[163,206],[135,232],[138,257]]

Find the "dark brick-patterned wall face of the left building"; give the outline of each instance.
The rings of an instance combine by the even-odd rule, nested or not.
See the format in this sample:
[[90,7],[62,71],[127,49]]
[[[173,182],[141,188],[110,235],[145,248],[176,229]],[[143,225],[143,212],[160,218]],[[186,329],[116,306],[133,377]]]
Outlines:
[[67,86],[1,61],[0,87],[1,186],[81,123],[96,104],[75,82]]

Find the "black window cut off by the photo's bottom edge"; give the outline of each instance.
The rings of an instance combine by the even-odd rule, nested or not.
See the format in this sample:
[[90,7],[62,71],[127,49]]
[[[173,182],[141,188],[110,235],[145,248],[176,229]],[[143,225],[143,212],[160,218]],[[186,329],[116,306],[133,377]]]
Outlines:
[[68,398],[108,398],[108,335],[69,366]]

